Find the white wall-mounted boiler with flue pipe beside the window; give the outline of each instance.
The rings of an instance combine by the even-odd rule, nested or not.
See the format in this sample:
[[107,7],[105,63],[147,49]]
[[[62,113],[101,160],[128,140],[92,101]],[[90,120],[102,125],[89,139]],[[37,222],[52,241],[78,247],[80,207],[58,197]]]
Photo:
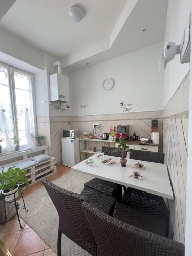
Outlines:
[[52,62],[54,68],[58,68],[58,72],[49,76],[50,82],[50,101],[51,103],[69,102],[69,78],[63,76],[61,62]]

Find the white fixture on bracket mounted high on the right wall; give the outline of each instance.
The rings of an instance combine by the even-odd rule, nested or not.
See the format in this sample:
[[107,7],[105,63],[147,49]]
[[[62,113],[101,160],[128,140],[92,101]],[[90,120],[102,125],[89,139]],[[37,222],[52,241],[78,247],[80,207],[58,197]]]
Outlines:
[[176,54],[180,54],[180,61],[182,64],[190,62],[190,46],[191,46],[191,14],[187,21],[187,25],[185,27],[185,31],[183,34],[183,38],[181,40],[180,45],[176,45],[175,42],[166,42],[162,51],[162,57],[159,62],[163,60],[164,68],[169,61],[175,58]]

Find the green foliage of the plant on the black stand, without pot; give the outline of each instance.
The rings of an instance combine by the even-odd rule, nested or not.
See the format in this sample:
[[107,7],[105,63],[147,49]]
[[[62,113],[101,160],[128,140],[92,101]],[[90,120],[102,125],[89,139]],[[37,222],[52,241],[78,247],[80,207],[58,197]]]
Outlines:
[[[26,178],[27,170],[21,170],[17,167],[11,167],[4,172],[4,168],[0,173],[0,189],[4,192],[9,192],[14,190],[17,185],[29,186],[28,179]],[[19,187],[18,192],[21,193],[22,188]]]

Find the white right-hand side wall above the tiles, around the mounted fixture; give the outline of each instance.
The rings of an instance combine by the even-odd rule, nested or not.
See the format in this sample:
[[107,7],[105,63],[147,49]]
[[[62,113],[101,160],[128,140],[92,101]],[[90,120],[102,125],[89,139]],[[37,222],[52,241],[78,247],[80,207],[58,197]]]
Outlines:
[[[180,44],[190,12],[191,0],[168,1],[165,42]],[[164,70],[164,106],[173,96],[188,70],[189,64],[181,65],[179,55],[168,63]]]

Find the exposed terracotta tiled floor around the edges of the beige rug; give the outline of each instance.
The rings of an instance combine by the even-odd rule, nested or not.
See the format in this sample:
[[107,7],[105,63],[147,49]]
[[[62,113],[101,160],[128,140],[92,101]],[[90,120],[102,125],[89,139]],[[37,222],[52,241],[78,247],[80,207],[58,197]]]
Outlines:
[[[57,173],[48,177],[50,181],[70,172],[70,168],[59,166]],[[24,197],[42,186],[39,181],[24,191]],[[22,220],[23,230],[17,218],[0,226],[0,239],[13,256],[56,256],[56,253],[38,236],[38,234]],[[1,253],[1,252],[0,252]]]

